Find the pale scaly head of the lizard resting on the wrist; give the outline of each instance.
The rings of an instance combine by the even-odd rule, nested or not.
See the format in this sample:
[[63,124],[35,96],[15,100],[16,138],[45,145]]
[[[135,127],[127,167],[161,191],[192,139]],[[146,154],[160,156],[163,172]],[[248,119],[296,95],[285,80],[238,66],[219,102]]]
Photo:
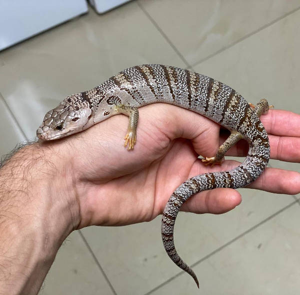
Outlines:
[[87,122],[91,109],[88,105],[79,104],[76,98],[76,94],[66,97],[56,108],[45,114],[36,130],[36,136],[39,139],[57,139],[89,127]]

